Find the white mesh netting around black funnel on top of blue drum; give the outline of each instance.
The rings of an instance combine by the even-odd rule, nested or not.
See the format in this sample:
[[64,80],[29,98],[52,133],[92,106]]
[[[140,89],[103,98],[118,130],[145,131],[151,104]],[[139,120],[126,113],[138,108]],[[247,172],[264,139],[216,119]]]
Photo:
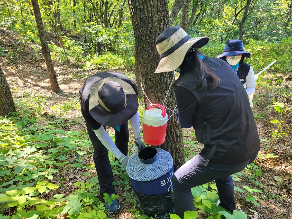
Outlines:
[[161,148],[156,148],[156,150],[157,159],[153,164],[143,164],[138,153],[132,154],[126,167],[129,177],[144,182],[155,180],[168,173],[173,166],[171,155]]

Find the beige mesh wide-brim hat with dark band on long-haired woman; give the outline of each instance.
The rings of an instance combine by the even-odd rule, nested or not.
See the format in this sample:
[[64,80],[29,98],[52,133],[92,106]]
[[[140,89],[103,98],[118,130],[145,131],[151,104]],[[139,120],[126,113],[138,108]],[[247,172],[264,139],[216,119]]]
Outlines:
[[168,27],[156,39],[155,44],[160,62],[155,73],[171,72],[177,69],[185,58],[189,48],[205,46],[209,37],[191,38],[180,26]]

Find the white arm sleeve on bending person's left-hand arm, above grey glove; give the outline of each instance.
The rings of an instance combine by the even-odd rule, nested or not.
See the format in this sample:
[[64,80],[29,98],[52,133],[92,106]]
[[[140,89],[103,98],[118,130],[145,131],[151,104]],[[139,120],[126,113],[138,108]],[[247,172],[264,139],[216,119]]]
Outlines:
[[119,159],[123,155],[122,152],[117,148],[117,146],[112,141],[111,137],[107,134],[105,131],[105,128],[103,126],[100,126],[98,130],[93,130],[95,135],[98,137],[100,142],[105,146],[107,150],[112,152],[114,156]]

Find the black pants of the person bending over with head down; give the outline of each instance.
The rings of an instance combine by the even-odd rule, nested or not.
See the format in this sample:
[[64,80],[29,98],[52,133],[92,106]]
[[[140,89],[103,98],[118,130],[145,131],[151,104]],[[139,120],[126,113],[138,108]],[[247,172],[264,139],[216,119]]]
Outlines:
[[[105,127],[105,126],[104,126]],[[121,125],[120,132],[116,131],[115,133],[115,145],[117,148],[126,156],[128,156],[128,142],[129,142],[129,130],[128,130],[128,121]],[[111,194],[114,192],[114,186],[112,181],[114,179],[112,168],[109,163],[108,152],[105,146],[100,142],[96,137],[93,130],[87,125],[87,131],[89,138],[94,147],[93,160],[95,164],[96,173],[100,185],[100,194],[103,193]]]

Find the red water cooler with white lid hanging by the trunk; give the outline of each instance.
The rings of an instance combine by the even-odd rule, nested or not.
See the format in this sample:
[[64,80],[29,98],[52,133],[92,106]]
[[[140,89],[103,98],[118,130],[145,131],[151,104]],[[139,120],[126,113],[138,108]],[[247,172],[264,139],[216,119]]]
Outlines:
[[[153,108],[153,107],[159,107]],[[167,113],[163,105],[154,103],[143,113],[143,138],[148,145],[161,145],[165,141]]]

